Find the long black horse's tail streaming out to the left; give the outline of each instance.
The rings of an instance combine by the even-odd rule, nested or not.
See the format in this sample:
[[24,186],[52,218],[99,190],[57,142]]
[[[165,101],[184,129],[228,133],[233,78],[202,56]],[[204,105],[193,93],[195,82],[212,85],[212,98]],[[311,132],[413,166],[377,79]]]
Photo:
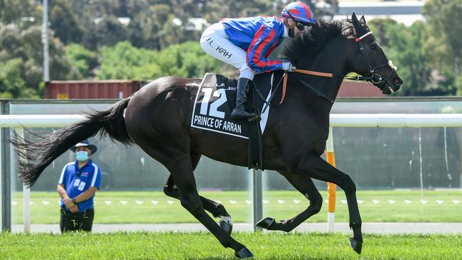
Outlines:
[[124,121],[124,109],[128,106],[130,98],[120,100],[107,110],[93,110],[83,121],[65,126],[46,138],[38,136],[39,141],[36,142],[26,141],[16,135],[16,138],[10,141],[19,155],[18,178],[31,187],[55,158],[75,143],[95,136],[100,130],[103,130],[101,136],[108,134],[112,140],[133,143]]

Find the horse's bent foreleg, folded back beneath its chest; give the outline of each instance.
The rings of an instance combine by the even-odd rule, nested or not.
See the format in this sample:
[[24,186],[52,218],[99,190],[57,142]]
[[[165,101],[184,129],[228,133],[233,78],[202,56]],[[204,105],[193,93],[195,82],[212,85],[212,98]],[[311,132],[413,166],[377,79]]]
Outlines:
[[299,215],[291,218],[290,220],[282,220],[281,222],[276,222],[272,217],[266,217],[263,220],[260,220],[257,223],[257,227],[262,227],[268,230],[281,230],[285,232],[290,232],[295,227],[299,226],[301,222],[308,219],[321,210],[323,204],[323,197],[318,192],[318,189],[313,183],[313,180],[306,175],[296,175],[288,173],[285,171],[279,171],[281,175],[289,180],[289,182],[294,185],[294,187],[299,190],[299,192],[306,196],[310,201],[310,205],[306,210],[303,210]]

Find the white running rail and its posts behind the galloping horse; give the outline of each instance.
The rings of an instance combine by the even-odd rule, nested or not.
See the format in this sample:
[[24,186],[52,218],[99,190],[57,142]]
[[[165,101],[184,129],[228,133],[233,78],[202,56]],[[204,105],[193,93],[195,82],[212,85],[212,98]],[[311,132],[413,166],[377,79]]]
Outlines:
[[[23,127],[58,127],[70,124],[83,119],[81,115],[1,115],[0,126],[2,128],[14,128],[18,134],[23,133]],[[462,114],[331,114],[332,127],[462,127]],[[331,130],[332,131],[332,130]],[[329,134],[332,137],[332,134]],[[4,134],[2,140],[6,141]],[[333,155],[333,141],[328,140],[328,152]],[[4,166],[4,146],[2,146],[2,163]],[[335,164],[333,156],[327,156],[330,163]],[[3,168],[3,167],[2,167]],[[4,177],[4,175],[3,175]],[[2,229],[11,229],[11,197],[5,178],[2,179]],[[255,224],[262,218],[262,177],[261,172],[253,172],[252,193],[254,197],[253,220]],[[330,196],[335,197],[335,188],[331,188]],[[23,188],[23,210],[24,210],[24,230],[27,232],[30,228],[30,210],[29,210],[29,190]],[[329,215],[328,230],[333,230],[335,200],[332,197],[328,199]],[[5,219],[6,218],[6,219]]]

